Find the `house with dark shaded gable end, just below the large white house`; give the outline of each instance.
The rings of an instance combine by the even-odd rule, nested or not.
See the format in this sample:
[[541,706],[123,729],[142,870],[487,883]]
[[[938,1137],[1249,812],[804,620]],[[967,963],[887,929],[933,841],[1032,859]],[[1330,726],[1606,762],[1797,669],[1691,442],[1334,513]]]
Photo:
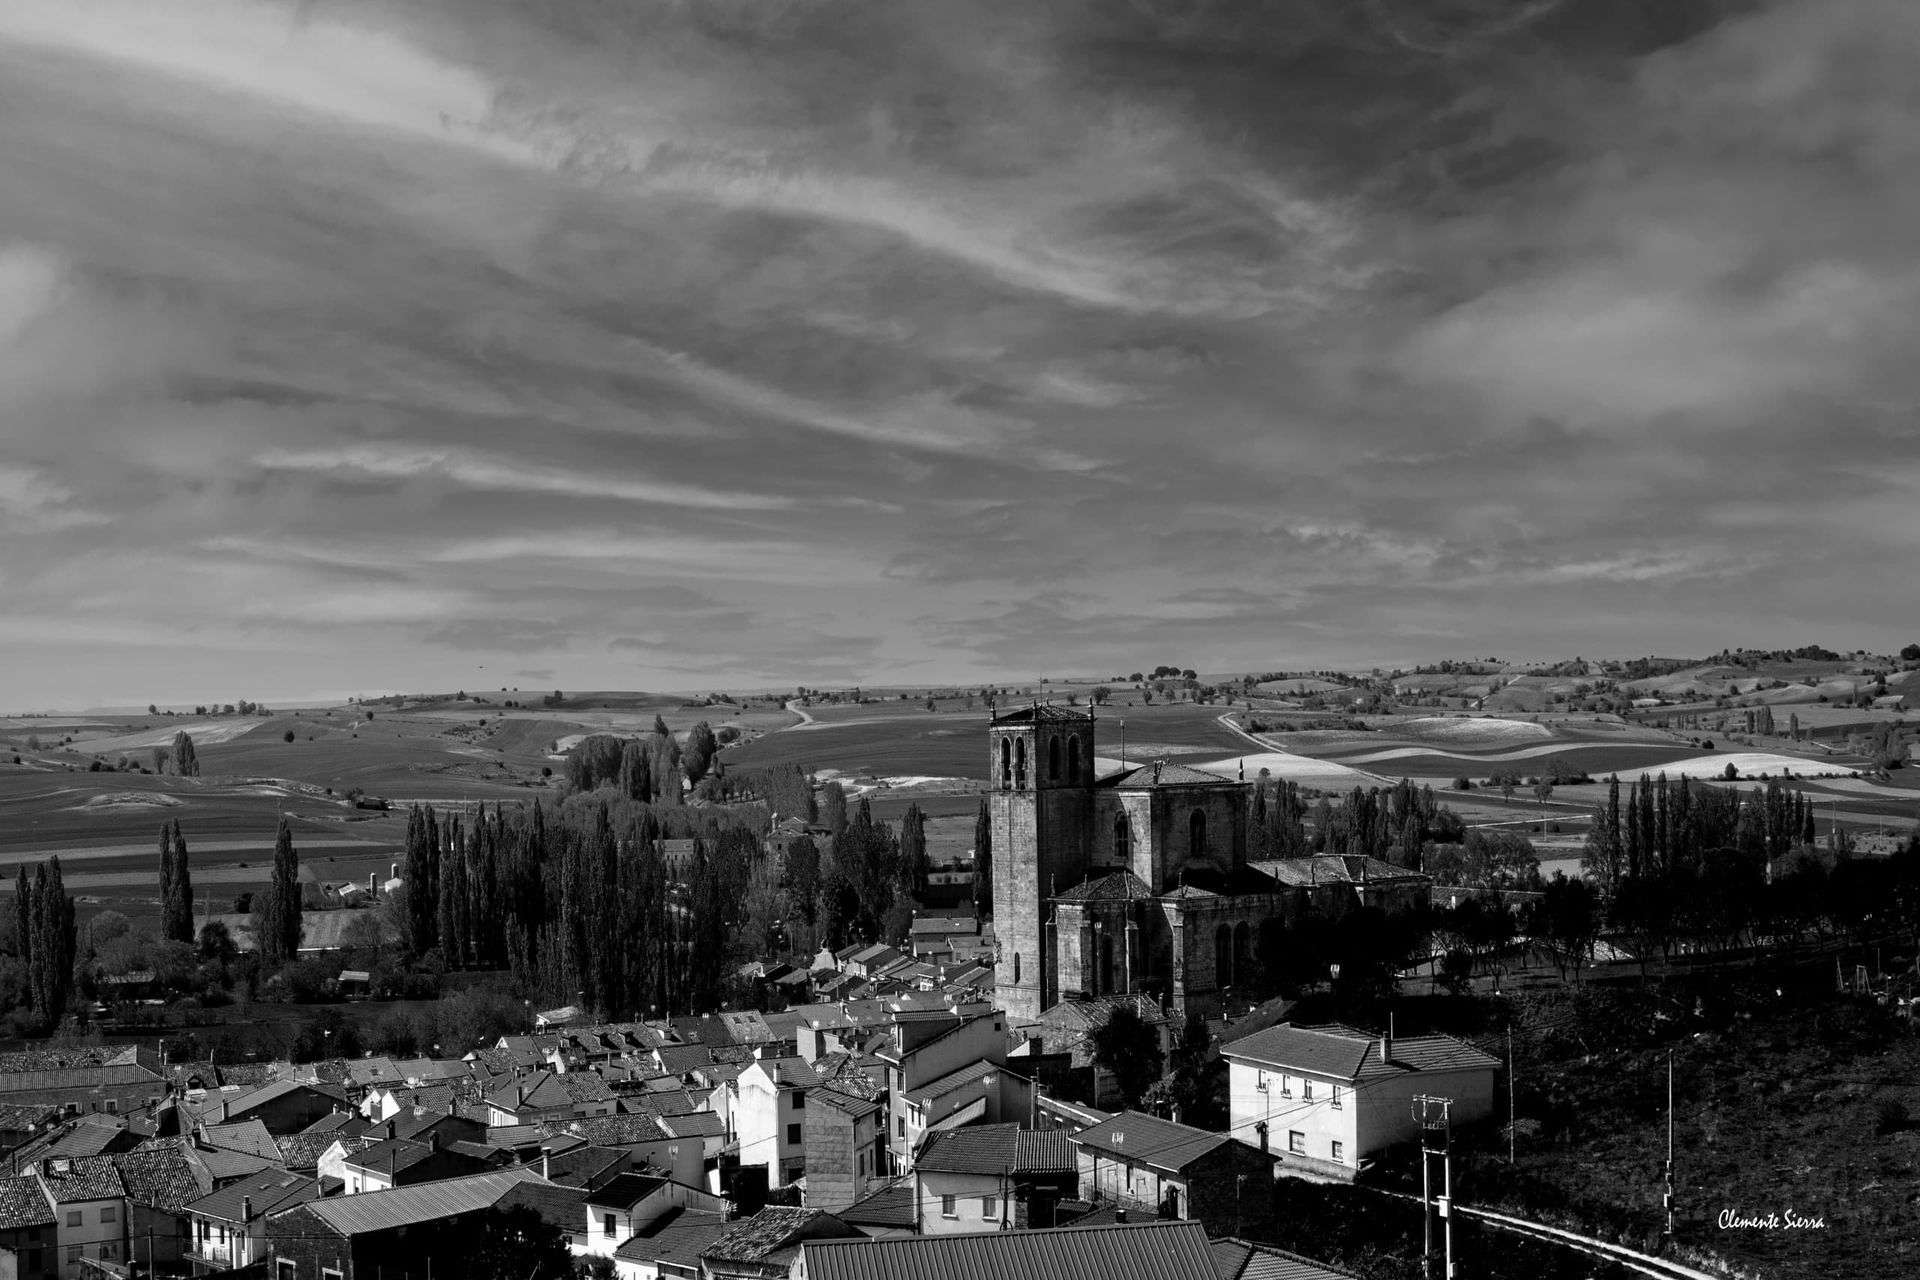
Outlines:
[[1091,1201],[1190,1219],[1210,1234],[1260,1232],[1273,1219],[1275,1157],[1240,1138],[1121,1111],[1068,1142]]

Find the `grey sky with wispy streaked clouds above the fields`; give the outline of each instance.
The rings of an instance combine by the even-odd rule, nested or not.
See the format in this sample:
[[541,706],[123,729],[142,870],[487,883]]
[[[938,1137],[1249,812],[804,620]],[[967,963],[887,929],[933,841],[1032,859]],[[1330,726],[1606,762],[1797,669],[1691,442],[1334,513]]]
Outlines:
[[1912,0],[8,0],[0,708],[1920,639]]

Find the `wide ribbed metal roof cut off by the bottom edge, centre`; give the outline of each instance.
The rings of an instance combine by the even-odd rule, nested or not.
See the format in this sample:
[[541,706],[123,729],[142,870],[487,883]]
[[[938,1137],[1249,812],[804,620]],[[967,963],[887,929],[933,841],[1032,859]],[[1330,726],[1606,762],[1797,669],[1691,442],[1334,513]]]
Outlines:
[[1200,1222],[808,1240],[808,1280],[1217,1280]]

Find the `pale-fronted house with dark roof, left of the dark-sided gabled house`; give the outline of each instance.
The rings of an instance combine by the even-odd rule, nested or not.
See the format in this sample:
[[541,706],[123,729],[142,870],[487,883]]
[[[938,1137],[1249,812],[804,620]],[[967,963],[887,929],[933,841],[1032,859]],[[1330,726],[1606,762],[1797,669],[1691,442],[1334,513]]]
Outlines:
[[1018,1125],[931,1132],[912,1176],[922,1236],[1052,1226],[1054,1205],[1079,1184],[1064,1132]]

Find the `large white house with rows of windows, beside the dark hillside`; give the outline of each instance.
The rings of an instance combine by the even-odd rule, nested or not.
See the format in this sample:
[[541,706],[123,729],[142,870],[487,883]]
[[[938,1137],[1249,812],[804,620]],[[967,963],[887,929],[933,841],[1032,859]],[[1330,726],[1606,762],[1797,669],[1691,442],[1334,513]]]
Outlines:
[[1352,1180],[1363,1161],[1419,1136],[1417,1094],[1452,1098],[1459,1126],[1494,1115],[1500,1059],[1453,1036],[1283,1023],[1221,1057],[1233,1132],[1279,1155],[1281,1173]]

